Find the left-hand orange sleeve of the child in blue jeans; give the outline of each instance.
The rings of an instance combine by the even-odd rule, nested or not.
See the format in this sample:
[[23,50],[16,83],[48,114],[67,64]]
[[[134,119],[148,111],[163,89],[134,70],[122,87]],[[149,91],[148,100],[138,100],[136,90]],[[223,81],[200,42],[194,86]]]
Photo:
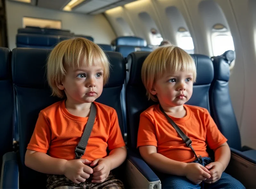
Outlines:
[[157,147],[156,129],[153,118],[149,117],[146,113],[142,113],[140,114],[137,147],[147,145]]

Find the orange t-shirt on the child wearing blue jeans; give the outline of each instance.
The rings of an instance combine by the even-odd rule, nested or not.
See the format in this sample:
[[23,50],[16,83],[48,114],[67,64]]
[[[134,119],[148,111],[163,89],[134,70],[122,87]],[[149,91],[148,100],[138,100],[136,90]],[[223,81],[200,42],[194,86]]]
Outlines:
[[[192,140],[196,155],[209,157],[206,146],[211,149],[227,141],[214,123],[208,110],[197,106],[184,105],[187,115],[172,120]],[[157,153],[179,162],[196,160],[192,149],[187,147],[174,127],[168,122],[158,105],[153,105],[140,115],[137,147],[156,146]]]

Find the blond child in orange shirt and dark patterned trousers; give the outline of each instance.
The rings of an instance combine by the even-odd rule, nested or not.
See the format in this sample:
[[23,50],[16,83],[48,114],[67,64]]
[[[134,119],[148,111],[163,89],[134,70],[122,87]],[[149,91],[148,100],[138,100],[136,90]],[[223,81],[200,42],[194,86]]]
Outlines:
[[[47,188],[124,188],[111,173],[127,154],[116,110],[94,102],[108,77],[105,53],[87,39],[65,40],[52,50],[48,83],[52,95],[65,100],[40,111],[25,155],[26,166],[48,174]],[[75,159],[92,103],[96,107],[92,132],[84,155]]]

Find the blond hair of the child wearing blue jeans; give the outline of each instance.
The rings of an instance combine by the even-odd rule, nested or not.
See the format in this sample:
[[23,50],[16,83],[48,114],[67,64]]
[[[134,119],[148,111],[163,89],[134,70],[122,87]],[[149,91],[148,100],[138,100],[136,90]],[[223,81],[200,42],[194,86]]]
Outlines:
[[151,52],[141,69],[141,79],[147,90],[148,100],[158,101],[156,95],[150,93],[157,79],[160,79],[165,72],[174,74],[179,71],[193,72],[193,82],[196,81],[195,62],[183,49],[165,45]]

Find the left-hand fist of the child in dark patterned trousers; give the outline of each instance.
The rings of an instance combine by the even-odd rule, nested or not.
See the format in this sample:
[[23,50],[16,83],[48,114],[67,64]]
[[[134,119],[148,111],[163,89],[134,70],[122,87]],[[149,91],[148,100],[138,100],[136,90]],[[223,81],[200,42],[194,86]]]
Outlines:
[[64,175],[76,184],[85,182],[93,173],[92,168],[88,166],[90,163],[92,162],[87,159],[69,160],[65,164]]

